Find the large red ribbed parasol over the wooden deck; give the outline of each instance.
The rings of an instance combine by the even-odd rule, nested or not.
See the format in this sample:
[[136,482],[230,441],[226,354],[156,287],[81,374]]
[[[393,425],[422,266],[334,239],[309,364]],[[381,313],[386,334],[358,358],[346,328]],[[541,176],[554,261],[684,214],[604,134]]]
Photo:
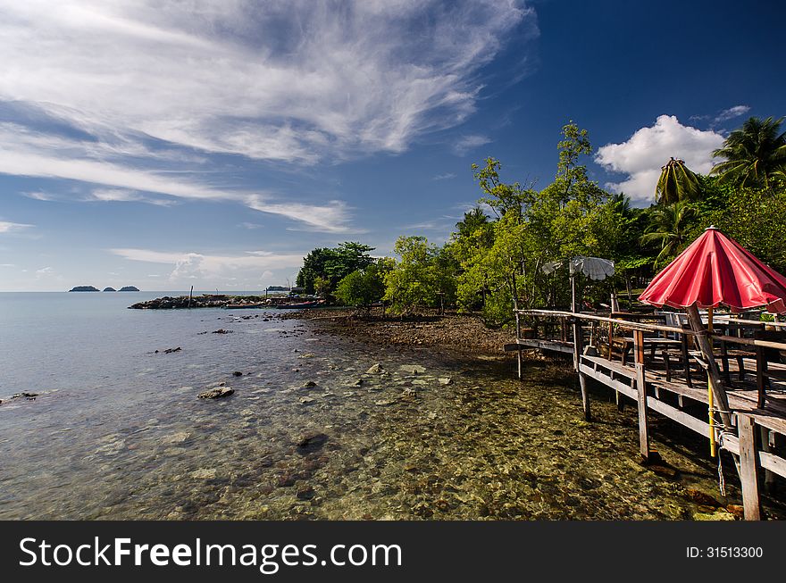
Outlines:
[[655,276],[639,299],[658,307],[723,304],[740,311],[765,306],[769,312],[782,313],[786,312],[786,278],[710,227]]

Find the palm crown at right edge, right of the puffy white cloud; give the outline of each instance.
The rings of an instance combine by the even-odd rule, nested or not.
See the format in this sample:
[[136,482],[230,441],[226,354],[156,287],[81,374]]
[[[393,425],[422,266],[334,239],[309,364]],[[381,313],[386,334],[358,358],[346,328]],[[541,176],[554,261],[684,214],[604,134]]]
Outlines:
[[786,131],[783,118],[752,117],[735,129],[713,156],[725,158],[713,167],[721,181],[740,187],[769,187],[773,178],[786,179]]

